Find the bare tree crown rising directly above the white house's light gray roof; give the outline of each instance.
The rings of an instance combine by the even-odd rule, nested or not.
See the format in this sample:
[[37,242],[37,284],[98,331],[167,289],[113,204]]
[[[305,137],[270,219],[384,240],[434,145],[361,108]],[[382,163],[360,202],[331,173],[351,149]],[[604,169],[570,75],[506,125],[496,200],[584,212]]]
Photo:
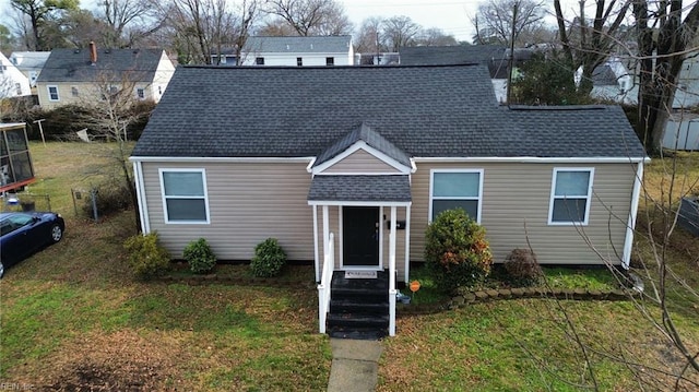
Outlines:
[[285,21],[298,35],[348,35],[353,25],[335,0],[268,0],[266,12]]

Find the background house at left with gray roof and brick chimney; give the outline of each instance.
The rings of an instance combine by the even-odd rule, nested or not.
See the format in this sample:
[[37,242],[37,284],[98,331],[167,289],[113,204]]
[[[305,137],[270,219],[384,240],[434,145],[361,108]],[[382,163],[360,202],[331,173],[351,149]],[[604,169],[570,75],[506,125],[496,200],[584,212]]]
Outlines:
[[133,90],[135,99],[161,100],[175,67],[162,49],[54,49],[37,79],[39,105],[104,99],[105,91]]

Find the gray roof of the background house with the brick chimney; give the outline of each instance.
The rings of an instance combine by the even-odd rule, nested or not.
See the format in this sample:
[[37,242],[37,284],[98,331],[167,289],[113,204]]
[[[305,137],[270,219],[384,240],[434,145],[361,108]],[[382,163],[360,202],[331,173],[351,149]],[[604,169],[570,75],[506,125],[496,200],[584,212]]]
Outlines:
[[37,82],[153,81],[162,49],[97,49],[97,62],[90,61],[90,49],[54,49]]

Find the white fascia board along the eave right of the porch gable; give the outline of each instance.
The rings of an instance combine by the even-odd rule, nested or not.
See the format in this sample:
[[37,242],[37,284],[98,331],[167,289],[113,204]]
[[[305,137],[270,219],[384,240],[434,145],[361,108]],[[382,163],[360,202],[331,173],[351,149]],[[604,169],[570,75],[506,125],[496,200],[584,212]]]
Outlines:
[[637,164],[639,162],[649,163],[650,157],[559,157],[543,158],[536,156],[485,156],[485,157],[414,157],[415,163],[519,163],[519,164]]

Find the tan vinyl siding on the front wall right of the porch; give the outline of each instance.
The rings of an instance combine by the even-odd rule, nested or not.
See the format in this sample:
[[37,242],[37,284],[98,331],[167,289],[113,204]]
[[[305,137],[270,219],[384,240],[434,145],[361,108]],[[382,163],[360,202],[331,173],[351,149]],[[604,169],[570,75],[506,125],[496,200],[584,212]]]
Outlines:
[[[587,226],[548,225],[554,167],[594,167],[593,195]],[[411,260],[423,261],[433,168],[484,169],[481,224],[496,262],[526,238],[541,263],[600,264],[597,252],[618,264],[623,253],[631,190],[632,164],[419,164],[413,175]],[[615,254],[615,252],[618,254]]]

